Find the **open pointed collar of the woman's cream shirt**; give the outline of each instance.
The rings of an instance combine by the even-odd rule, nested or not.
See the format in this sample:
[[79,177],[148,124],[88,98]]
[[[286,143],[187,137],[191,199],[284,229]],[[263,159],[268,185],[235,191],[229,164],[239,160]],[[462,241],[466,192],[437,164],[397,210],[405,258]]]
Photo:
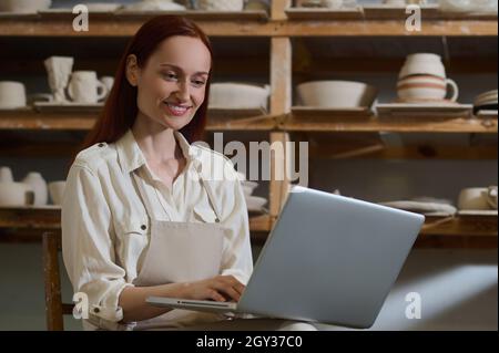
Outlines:
[[[187,163],[195,158],[195,153],[187,139],[182,133],[173,132],[175,139],[177,141],[182,154],[187,159]],[[116,142],[118,158],[123,173],[133,172],[146,164],[144,154],[142,153],[135,136],[129,128],[126,133]]]

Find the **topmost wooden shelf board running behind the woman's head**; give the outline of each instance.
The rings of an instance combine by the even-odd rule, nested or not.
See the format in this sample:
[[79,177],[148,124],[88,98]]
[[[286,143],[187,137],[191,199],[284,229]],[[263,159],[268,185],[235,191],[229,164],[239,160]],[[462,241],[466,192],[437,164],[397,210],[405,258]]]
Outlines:
[[[72,18],[0,18],[0,37],[132,37],[146,18],[118,17],[90,22],[88,32],[77,32]],[[401,20],[262,21],[197,19],[211,37],[497,37],[498,22],[483,19],[426,20],[421,31],[408,32]]]

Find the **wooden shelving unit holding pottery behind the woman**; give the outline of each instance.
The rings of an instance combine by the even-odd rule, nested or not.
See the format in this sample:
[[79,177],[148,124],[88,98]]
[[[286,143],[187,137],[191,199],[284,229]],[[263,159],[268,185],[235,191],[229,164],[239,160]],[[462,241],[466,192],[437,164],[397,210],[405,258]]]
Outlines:
[[[356,68],[360,71],[379,70],[390,72],[394,66],[401,64],[401,58],[318,58],[314,64],[294,58],[293,45],[296,40],[313,40],[315,38],[334,38],[352,40],[370,40],[370,38],[399,38],[430,39],[430,38],[472,38],[497,39],[497,15],[444,15],[441,13],[427,13],[421,31],[408,32],[404,25],[404,17],[377,18],[376,15],[344,15],[330,11],[304,11],[291,9],[291,0],[273,0],[269,15],[262,12],[243,13],[198,13],[185,12],[200,24],[200,27],[214,38],[233,38],[241,41],[259,38],[268,40],[268,58],[257,58],[248,63],[248,72],[258,73],[268,70],[272,95],[269,112],[252,116],[223,116],[208,114],[208,131],[259,131],[269,134],[269,142],[289,141],[293,134],[308,133],[448,133],[448,134],[497,134],[498,120],[496,117],[458,117],[442,118],[438,116],[411,117],[353,117],[353,116],[324,116],[319,112],[309,112],[299,116],[292,113],[293,105],[293,75],[294,73],[307,75],[316,72],[329,72],[330,68],[346,68],[352,72]],[[149,18],[159,13],[115,13],[91,14],[88,32],[75,32],[72,29],[73,15],[69,13],[43,13],[34,15],[0,15],[0,43],[8,40],[30,39],[43,40],[99,40],[106,41],[133,35],[140,25]],[[424,13],[425,15],[425,13]],[[19,45],[13,44],[13,45]],[[22,45],[22,44],[21,44]],[[466,58],[457,58],[454,70],[458,72],[482,73],[497,70],[496,58],[477,58],[476,65],[469,66]],[[1,58],[1,55],[0,55]],[[95,62],[95,68],[106,71],[114,68],[114,59],[102,58]],[[224,73],[241,70],[237,58],[216,58],[222,62]],[[91,63],[92,58],[82,58],[83,63]],[[7,66],[16,73],[37,72],[38,62],[18,63],[16,56],[6,59]],[[481,63],[481,64],[478,64]],[[9,70],[10,70],[9,69]],[[73,113],[40,113],[34,110],[0,111],[1,133],[31,131],[42,133],[47,131],[88,131],[98,116],[96,112]],[[324,146],[323,146],[324,147]],[[9,147],[10,148],[10,147]],[[13,148],[13,147],[12,147]],[[55,148],[55,147],[54,147]],[[53,152],[54,148],[35,148],[28,146],[26,154],[40,156],[43,150]],[[58,147],[59,148],[59,147]],[[314,153],[322,153],[320,146],[314,147]],[[21,148],[22,149],[22,148]],[[326,146],[327,149],[327,146]],[[438,149],[438,148],[437,148]],[[10,150],[10,149],[9,149]],[[439,149],[437,158],[457,158],[457,149]],[[326,150],[326,154],[328,152]],[[369,154],[378,154],[379,158],[418,158],[428,157],[428,150],[415,148],[373,149]],[[429,153],[431,155],[431,153]],[[340,153],[340,157],[350,158],[355,154]],[[467,159],[482,156],[497,158],[497,152],[489,147],[475,146],[467,153]],[[338,157],[338,154],[336,154]],[[275,164],[274,159],[271,159]],[[279,214],[286,198],[288,180],[269,181],[269,214],[251,217],[252,231],[268,232]],[[54,229],[59,226],[60,211],[47,209],[0,209],[0,229]],[[258,239],[263,239],[258,236]],[[452,219],[438,219],[429,217],[425,225],[418,246],[422,247],[497,247],[497,217],[456,217]]]

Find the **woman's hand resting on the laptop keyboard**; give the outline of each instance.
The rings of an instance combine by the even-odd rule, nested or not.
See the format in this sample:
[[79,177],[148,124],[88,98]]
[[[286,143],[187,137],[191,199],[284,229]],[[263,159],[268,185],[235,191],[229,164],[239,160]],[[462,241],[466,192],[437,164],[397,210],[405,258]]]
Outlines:
[[245,285],[234,276],[216,276],[185,283],[185,298],[194,300],[240,301]]

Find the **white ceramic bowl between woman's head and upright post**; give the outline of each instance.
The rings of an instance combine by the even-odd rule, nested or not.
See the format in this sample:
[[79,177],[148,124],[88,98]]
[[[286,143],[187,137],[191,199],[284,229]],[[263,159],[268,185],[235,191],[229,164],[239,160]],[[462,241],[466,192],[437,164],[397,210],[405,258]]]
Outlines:
[[271,87],[244,83],[213,83],[210,87],[210,107],[265,108],[268,107]]

